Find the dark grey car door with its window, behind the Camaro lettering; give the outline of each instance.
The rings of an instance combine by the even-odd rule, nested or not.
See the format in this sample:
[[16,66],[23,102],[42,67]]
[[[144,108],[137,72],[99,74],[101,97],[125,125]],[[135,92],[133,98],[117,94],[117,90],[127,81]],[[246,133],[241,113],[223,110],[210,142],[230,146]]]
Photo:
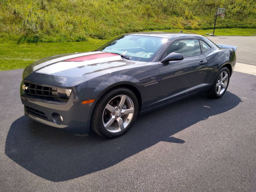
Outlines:
[[[201,53],[198,39],[174,41],[162,59],[171,52],[181,53],[183,60],[163,64],[159,61],[160,103],[166,103],[197,92],[207,71],[206,57]],[[159,104],[160,104],[159,103]]]

